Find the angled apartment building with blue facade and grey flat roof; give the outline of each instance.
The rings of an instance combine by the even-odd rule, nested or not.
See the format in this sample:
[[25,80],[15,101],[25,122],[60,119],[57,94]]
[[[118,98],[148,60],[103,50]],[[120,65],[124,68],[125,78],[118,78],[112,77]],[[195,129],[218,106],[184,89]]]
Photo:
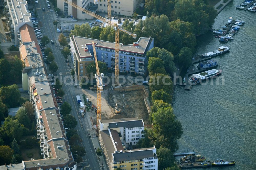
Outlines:
[[[115,70],[115,42],[96,40],[85,37],[70,37],[71,56],[93,58],[92,41],[95,43],[98,61],[105,62],[108,69]],[[131,74],[145,75],[146,53],[154,47],[154,39],[141,37],[133,44],[119,44],[119,71]],[[86,53],[86,54],[85,54]],[[75,55],[76,54],[76,55]],[[83,54],[79,56],[77,54]],[[78,59],[77,59],[78,60]],[[85,59],[83,59],[85,60]],[[79,63],[76,64],[79,67]],[[77,73],[78,77],[79,72]]]

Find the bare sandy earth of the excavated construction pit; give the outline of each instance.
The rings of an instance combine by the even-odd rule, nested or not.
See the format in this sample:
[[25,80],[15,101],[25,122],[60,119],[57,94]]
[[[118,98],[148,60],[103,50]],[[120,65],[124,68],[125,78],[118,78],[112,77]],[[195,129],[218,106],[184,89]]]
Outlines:
[[[97,93],[95,90],[76,89],[76,94],[85,94],[86,98],[92,101],[92,104],[97,103]],[[115,114],[115,103],[118,104],[121,110],[120,114]],[[93,118],[95,123],[95,111],[87,112]],[[145,124],[149,123],[148,113],[144,103],[144,92],[142,90],[120,92],[111,90],[110,87],[104,87],[101,93],[101,119],[116,119],[126,117],[138,117],[143,119]]]

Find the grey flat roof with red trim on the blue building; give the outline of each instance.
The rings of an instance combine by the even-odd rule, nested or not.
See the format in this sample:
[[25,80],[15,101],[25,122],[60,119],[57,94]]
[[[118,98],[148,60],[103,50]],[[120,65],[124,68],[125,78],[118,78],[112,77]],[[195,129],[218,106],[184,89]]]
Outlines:
[[[103,48],[109,48],[109,49],[115,50],[115,42],[78,37],[74,35],[73,35],[73,39],[79,50],[79,53],[81,54],[83,54],[83,51],[84,51],[81,46],[92,45],[92,41],[94,41],[95,47],[103,47]],[[137,41],[138,46],[134,46],[133,44],[124,45],[122,43],[119,43],[119,51],[144,54],[150,40],[151,40],[151,37],[141,37]]]

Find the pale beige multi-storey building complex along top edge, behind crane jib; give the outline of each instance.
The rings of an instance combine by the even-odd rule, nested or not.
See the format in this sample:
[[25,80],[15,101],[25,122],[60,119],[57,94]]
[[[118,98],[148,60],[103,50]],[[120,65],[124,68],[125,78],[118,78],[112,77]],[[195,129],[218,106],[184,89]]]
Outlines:
[[[86,10],[93,13],[97,11],[108,13],[107,0],[98,0],[98,4],[94,5],[94,0],[68,0]],[[132,16],[134,11],[141,4],[142,0],[113,0],[111,1],[111,15]],[[92,17],[84,12],[64,3],[62,0],[57,0],[57,7],[63,11],[64,16],[72,16],[77,19],[92,19]]]

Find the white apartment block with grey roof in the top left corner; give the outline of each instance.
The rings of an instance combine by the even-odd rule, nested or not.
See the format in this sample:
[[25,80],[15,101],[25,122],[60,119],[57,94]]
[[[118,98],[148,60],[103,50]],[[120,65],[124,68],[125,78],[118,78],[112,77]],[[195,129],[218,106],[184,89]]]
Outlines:
[[25,0],[4,0],[7,3],[5,5],[7,16],[9,17],[12,39],[15,40],[15,45],[18,45],[19,41],[19,28],[24,24],[28,24],[33,27],[31,22],[31,14],[28,10],[28,3]]

